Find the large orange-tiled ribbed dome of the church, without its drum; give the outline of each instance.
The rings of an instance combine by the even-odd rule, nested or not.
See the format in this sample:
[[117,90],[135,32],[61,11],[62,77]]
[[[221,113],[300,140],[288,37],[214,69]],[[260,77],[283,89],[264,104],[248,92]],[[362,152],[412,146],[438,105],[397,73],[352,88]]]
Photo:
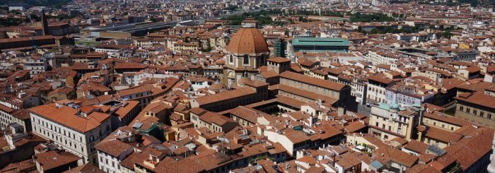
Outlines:
[[227,51],[232,54],[269,53],[267,41],[256,28],[240,28],[228,42]]

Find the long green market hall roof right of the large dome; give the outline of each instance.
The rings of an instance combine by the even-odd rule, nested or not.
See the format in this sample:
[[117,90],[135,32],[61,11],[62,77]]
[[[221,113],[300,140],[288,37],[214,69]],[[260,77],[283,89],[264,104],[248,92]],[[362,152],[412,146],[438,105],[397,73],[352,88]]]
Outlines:
[[299,37],[292,39],[294,46],[349,46],[349,40],[342,38]]

